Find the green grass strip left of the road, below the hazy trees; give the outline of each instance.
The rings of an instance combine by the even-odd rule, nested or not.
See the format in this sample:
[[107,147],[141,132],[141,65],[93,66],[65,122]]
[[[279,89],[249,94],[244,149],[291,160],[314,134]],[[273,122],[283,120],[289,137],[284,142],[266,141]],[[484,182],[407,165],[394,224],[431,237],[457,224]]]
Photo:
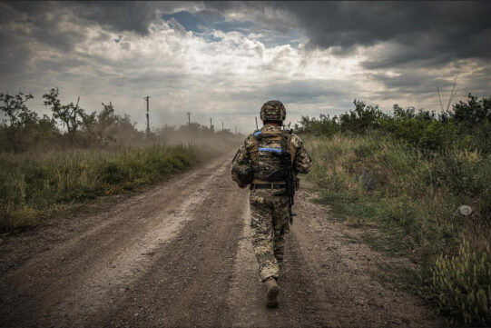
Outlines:
[[56,209],[142,190],[199,163],[192,145],[0,154],[0,231],[39,224]]

